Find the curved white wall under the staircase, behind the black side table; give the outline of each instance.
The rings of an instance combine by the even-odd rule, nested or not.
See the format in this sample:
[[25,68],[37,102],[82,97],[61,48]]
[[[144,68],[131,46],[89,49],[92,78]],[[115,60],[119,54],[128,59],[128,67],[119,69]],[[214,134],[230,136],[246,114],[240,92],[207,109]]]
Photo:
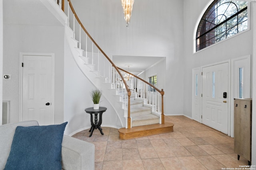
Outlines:
[[[90,114],[84,109],[93,107],[90,91],[96,88],[76,65],[67,42],[65,43],[64,67],[64,121],[68,121],[64,133],[74,135],[76,132],[91,127]],[[105,96],[100,99],[100,107],[107,107],[102,115],[102,127],[118,129],[122,127],[120,119]]]

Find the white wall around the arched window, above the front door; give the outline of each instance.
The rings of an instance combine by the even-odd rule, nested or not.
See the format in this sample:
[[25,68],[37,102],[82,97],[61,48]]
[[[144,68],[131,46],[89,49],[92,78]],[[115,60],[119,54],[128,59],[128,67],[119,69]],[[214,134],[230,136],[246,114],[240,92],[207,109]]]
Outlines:
[[252,30],[193,53],[196,22],[208,2],[184,0],[184,114],[188,117],[192,117],[192,68],[252,55]]

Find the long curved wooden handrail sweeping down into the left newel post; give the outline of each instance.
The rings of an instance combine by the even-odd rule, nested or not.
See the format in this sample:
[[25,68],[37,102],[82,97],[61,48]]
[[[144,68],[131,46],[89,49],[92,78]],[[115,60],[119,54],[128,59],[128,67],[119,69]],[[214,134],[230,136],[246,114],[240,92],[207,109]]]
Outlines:
[[[62,3],[64,0],[62,0]],[[100,50],[100,52],[106,57],[106,59],[108,59],[108,61],[112,64],[112,66],[116,69],[116,71],[118,72],[118,74],[120,75],[120,77],[122,78],[123,82],[124,82],[124,86],[126,88],[127,94],[128,94],[128,129],[131,128],[131,118],[130,118],[130,96],[131,96],[131,91],[126,83],[126,81],[124,80],[123,75],[121,74],[121,72],[118,70],[118,68],[116,67],[116,65],[112,62],[112,60],[110,60],[110,58],[106,55],[106,53],[100,48],[100,46],[94,41],[94,39],[91,37],[91,35],[88,33],[88,31],[85,29],[84,25],[82,24],[82,22],[79,20],[78,16],[76,15],[76,12],[72,6],[72,3],[70,0],[68,0],[70,9],[72,10],[76,20],[78,21],[78,23],[80,24],[81,28],[84,30],[84,32],[87,34],[87,36],[92,40],[92,42],[94,43],[94,45],[96,45],[96,47]],[[62,9],[64,9],[64,5],[62,7]]]

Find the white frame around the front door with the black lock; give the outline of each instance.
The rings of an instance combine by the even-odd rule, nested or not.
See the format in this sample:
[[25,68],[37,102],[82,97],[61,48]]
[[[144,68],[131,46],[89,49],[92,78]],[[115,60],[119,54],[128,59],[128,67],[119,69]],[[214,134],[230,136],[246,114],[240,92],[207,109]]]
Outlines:
[[[205,67],[209,67],[209,66],[214,66],[214,65],[218,65],[218,64],[223,64],[223,63],[228,63],[228,135],[230,136],[230,128],[231,126],[233,127],[233,123],[231,125],[231,112],[230,112],[230,103],[231,103],[231,61],[230,60],[226,60],[226,61],[221,61],[221,62],[218,62],[218,63],[212,63],[212,64],[208,64],[208,65],[204,65],[204,66],[200,66],[200,71],[202,73],[203,71],[203,68]],[[201,92],[201,95],[202,95],[202,89],[203,88],[203,83],[202,83],[202,74],[200,76],[200,92]],[[202,96],[200,95],[200,123],[202,123],[202,107],[203,107],[203,100],[202,100]]]

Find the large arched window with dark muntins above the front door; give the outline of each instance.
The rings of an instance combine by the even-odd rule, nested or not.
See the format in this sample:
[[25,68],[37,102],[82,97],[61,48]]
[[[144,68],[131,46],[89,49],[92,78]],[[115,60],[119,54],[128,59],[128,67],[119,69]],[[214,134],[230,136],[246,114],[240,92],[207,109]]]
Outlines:
[[247,29],[248,2],[214,0],[207,8],[196,32],[196,51]]

